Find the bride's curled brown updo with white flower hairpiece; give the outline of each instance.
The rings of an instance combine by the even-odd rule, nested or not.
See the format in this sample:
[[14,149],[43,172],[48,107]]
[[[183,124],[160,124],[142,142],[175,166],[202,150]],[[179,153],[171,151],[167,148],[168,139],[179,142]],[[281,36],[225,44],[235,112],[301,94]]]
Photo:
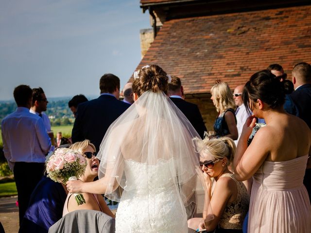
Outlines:
[[138,97],[149,90],[155,93],[159,91],[167,91],[169,78],[167,73],[161,67],[151,65],[149,67],[143,67],[135,72],[138,74],[138,78],[134,77],[132,89]]

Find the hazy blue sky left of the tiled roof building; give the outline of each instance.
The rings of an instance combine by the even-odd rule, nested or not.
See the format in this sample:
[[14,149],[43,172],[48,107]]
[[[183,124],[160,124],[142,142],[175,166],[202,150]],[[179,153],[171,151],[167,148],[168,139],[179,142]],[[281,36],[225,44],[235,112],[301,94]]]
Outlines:
[[0,100],[14,87],[47,98],[99,94],[113,73],[121,88],[140,62],[139,30],[151,28],[139,0],[0,0]]

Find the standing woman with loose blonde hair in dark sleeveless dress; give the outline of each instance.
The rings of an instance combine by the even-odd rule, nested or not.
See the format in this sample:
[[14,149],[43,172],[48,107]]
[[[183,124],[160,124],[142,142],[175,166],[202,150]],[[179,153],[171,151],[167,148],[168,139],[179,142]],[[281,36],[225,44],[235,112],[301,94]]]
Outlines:
[[234,115],[236,106],[229,85],[217,81],[211,88],[210,93],[212,94],[210,99],[219,113],[214,123],[215,135],[213,136],[227,136],[233,140],[237,140],[239,133],[237,119]]

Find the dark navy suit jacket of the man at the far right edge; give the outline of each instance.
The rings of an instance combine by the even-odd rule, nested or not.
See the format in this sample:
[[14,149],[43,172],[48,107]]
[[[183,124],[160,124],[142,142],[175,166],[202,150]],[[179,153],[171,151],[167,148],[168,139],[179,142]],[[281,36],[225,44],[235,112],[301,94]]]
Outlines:
[[[311,129],[311,84],[304,84],[292,94],[286,95],[284,109],[286,112],[303,119]],[[311,200],[311,169],[306,170],[303,183]]]

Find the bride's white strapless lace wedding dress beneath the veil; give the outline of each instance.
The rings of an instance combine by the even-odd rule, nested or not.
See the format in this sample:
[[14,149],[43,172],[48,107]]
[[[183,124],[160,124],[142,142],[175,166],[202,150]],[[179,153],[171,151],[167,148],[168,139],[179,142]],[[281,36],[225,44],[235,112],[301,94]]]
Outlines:
[[188,233],[170,163],[124,161],[126,186],[116,214],[116,233]]

